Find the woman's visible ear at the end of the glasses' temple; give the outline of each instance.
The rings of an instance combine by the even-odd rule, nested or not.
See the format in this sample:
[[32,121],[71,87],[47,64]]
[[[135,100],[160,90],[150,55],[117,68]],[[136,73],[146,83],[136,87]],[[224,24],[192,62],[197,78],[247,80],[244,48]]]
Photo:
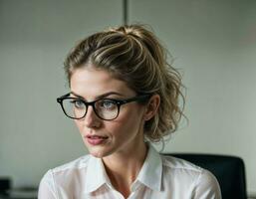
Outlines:
[[145,112],[143,115],[144,120],[149,120],[150,118],[152,118],[155,113],[158,110],[160,104],[160,97],[159,95],[153,95],[147,102],[146,104],[146,108],[145,108]]

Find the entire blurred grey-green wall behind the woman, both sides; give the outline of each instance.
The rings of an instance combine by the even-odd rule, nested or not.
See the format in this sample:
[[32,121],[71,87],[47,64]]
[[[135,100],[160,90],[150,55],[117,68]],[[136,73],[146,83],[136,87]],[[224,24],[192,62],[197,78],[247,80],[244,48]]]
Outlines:
[[[74,44],[123,24],[121,0],[0,0],[0,176],[38,186],[52,167],[87,154],[56,98]],[[128,23],[149,24],[186,87],[185,114],[164,151],[244,159],[256,193],[256,1],[128,0]]]

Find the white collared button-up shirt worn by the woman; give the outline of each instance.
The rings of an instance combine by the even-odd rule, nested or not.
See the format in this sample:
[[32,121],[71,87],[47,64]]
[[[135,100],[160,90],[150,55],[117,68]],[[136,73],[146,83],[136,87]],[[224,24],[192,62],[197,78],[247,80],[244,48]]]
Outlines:
[[[185,160],[161,156],[149,144],[146,159],[128,199],[221,199],[216,178]],[[86,155],[49,170],[38,199],[124,199],[113,186],[100,158]]]

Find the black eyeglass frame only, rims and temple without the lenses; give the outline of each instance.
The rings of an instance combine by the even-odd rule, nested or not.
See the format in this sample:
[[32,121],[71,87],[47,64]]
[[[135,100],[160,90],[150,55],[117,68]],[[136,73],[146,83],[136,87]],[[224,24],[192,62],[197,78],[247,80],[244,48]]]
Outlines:
[[[114,117],[114,118],[111,118],[111,119],[106,119],[106,118],[103,118],[102,116],[100,116],[99,113],[98,113],[97,110],[96,110],[95,103],[96,103],[97,101],[99,101],[99,100],[85,101],[85,100],[83,100],[83,99],[81,99],[81,98],[69,97],[70,95],[71,95],[71,93],[66,94],[66,95],[64,95],[64,96],[62,96],[62,97],[60,97],[60,98],[57,99],[57,102],[59,102],[59,103],[61,104],[62,110],[63,110],[63,112],[66,114],[66,116],[68,116],[68,117],[70,117],[70,118],[72,118],[72,119],[81,119],[81,118],[84,118],[84,117],[87,115],[88,106],[89,106],[89,105],[92,105],[92,106],[93,106],[93,109],[94,109],[94,111],[95,111],[95,113],[96,113],[96,115],[97,115],[99,118],[103,119],[103,120],[114,120],[114,119],[118,118],[118,116],[120,115],[120,107],[121,107],[121,105],[123,105],[123,104],[126,104],[126,103],[128,103],[128,102],[132,102],[132,101],[140,101],[140,102],[142,102],[142,101],[144,101],[144,100],[148,100],[148,99],[151,97],[151,95],[146,94],[146,95],[139,95],[139,96],[136,96],[136,97],[133,97],[133,98],[130,98],[130,99],[126,99],[126,100],[115,100],[115,99],[106,99],[106,98],[104,98],[104,99],[99,99],[99,100],[112,100],[112,101],[114,101],[114,102],[118,105],[118,113],[117,113],[117,116]],[[86,105],[86,112],[85,112],[85,114],[84,114],[83,116],[81,116],[81,117],[73,117],[73,116],[70,116],[70,115],[66,112],[66,110],[65,110],[65,108],[64,108],[64,105],[63,105],[63,100],[67,100],[67,99],[71,99],[71,100],[80,100],[80,101],[82,101],[82,102]]]

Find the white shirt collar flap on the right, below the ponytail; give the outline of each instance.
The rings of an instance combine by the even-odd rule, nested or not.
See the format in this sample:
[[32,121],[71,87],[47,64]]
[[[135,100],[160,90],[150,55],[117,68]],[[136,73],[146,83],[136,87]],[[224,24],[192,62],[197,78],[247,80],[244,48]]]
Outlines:
[[159,153],[148,144],[148,152],[136,181],[152,190],[161,190],[162,160]]

